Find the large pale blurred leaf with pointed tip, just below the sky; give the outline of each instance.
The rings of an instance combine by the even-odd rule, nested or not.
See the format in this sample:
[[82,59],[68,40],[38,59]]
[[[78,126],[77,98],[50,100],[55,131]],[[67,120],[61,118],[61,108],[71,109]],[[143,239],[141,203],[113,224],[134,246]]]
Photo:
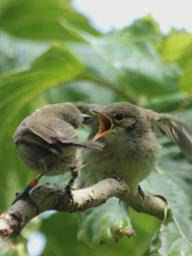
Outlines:
[[111,68],[119,87],[130,97],[146,94],[148,97],[176,93],[180,70],[176,65],[165,65],[155,50],[153,41],[157,34],[150,20],[137,20],[122,31],[114,31],[101,37],[93,37],[66,22],[65,29],[83,41]]

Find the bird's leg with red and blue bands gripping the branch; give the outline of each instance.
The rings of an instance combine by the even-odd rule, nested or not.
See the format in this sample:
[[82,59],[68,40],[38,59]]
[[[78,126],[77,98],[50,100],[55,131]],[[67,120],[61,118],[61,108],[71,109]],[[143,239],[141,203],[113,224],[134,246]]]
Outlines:
[[33,189],[38,184],[38,181],[41,179],[41,177],[46,175],[52,169],[52,166],[53,166],[53,164],[49,165],[45,170],[43,170],[41,172],[40,175],[37,176],[36,179],[31,180],[31,182],[29,184],[27,184],[27,186],[24,188],[24,190],[21,193],[16,193],[16,198],[12,202],[12,205],[15,204],[15,202],[18,200],[21,200],[21,199],[27,200],[27,201],[30,201],[33,205],[35,205],[35,207],[37,208],[37,212],[38,212],[38,207],[35,204],[35,202],[31,199],[31,197],[29,196],[29,192],[31,189]]

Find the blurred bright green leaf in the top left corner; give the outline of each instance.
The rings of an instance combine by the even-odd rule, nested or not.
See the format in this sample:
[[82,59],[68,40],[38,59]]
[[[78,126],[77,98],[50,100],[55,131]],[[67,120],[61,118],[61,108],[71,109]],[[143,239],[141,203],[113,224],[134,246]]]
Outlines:
[[12,0],[1,7],[0,24],[3,30],[19,37],[40,40],[76,41],[59,23],[66,19],[88,33],[98,35],[86,17],[75,12],[70,1],[62,0]]

